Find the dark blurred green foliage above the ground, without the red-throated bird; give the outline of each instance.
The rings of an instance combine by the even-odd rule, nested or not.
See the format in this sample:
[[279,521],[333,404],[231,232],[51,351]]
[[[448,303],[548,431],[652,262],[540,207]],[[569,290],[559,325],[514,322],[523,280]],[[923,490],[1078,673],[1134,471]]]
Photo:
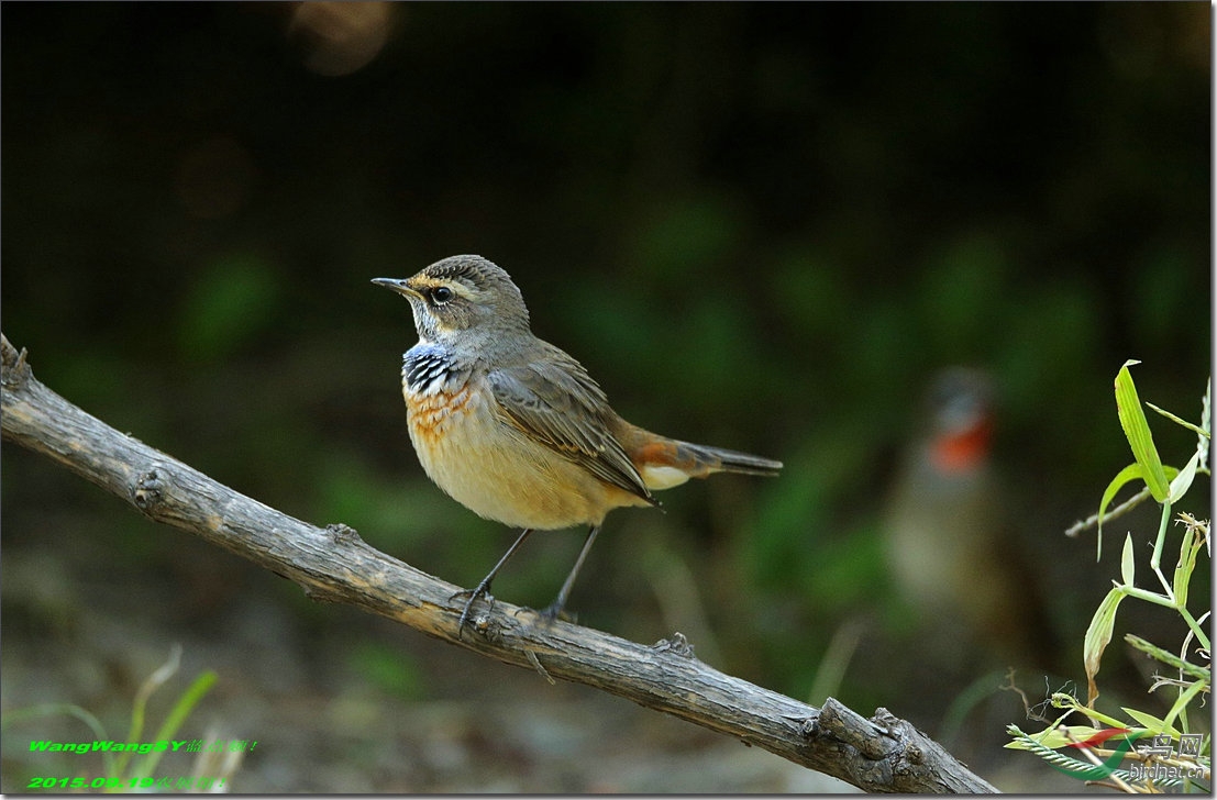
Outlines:
[[[459,584],[493,563],[511,533],[417,467],[408,309],[368,282],[479,253],[626,417],[786,462],[610,517],[581,621],[669,635],[677,558],[716,665],[802,695],[842,620],[891,612],[877,514],[937,368],[994,371],[1002,463],[1054,541],[1131,462],[1126,359],[1199,418],[1205,4],[399,5],[337,78],[303,67],[291,11],[0,11],[5,333],[72,401],[271,506]],[[236,199],[198,216],[187,190]],[[1189,435],[1152,424],[1182,464]],[[196,596],[296,602],[10,445],[2,490],[6,553],[89,539],[150,591],[208,585],[174,595],[184,624],[207,624]],[[532,542],[500,596],[548,602],[579,539]],[[1053,547],[1106,569],[1093,539]],[[394,659],[366,652],[376,680]],[[882,671],[841,695],[898,711]]]

